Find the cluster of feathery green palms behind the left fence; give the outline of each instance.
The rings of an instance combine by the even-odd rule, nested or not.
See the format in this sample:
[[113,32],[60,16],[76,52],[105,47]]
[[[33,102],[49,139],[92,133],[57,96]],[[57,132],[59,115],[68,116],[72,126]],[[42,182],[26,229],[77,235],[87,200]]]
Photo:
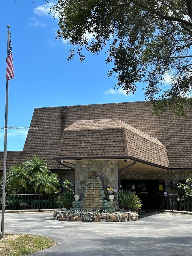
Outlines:
[[8,193],[58,192],[58,175],[52,173],[45,158],[34,156],[21,165],[12,166],[6,173]]

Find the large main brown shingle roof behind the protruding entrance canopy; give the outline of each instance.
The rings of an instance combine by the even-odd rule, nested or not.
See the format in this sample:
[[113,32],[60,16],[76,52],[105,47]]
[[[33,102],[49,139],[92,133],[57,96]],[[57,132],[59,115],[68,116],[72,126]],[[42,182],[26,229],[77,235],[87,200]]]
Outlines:
[[[171,110],[155,117],[145,101],[36,108],[30,126],[39,129],[29,130],[22,155],[21,152],[7,154],[7,161],[25,161],[35,154],[46,157],[51,169],[63,169],[52,159],[57,156],[63,129],[78,120],[109,118],[118,118],[151,137],[157,137],[167,148],[170,167],[192,168],[192,110],[187,111],[186,117],[175,117]],[[0,170],[3,169],[2,158],[0,152]]]

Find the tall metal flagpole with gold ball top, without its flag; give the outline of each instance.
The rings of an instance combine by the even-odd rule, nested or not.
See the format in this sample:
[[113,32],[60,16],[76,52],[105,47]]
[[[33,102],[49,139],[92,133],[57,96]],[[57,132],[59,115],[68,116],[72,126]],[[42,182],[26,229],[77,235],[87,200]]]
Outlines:
[[[7,25],[7,57],[10,40],[10,26]],[[2,214],[1,214],[1,238],[4,235],[4,213],[5,213],[5,185],[6,185],[6,164],[7,164],[7,120],[8,120],[8,91],[9,80],[6,78],[6,100],[5,100],[5,127],[4,127],[4,162],[3,162],[3,194],[2,194]]]

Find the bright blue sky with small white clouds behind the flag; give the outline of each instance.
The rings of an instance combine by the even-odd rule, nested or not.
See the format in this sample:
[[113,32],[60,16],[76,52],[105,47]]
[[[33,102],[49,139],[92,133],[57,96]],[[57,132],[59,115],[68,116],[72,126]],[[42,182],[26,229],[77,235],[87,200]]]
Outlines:
[[[112,65],[105,51],[85,61],[67,61],[70,46],[55,41],[57,19],[44,0],[2,1],[0,22],[0,151],[4,150],[7,25],[10,25],[15,78],[9,81],[8,126],[29,127],[34,108],[144,101],[143,85],[134,95],[113,91]],[[20,6],[20,8],[19,8]],[[22,150],[27,129],[8,130],[7,150]]]

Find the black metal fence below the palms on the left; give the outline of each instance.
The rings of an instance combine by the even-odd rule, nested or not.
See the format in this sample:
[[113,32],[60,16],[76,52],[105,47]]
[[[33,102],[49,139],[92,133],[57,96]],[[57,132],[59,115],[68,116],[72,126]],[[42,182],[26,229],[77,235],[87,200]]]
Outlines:
[[[5,210],[57,209],[58,194],[13,194],[5,197]],[[2,195],[0,195],[0,210]]]

